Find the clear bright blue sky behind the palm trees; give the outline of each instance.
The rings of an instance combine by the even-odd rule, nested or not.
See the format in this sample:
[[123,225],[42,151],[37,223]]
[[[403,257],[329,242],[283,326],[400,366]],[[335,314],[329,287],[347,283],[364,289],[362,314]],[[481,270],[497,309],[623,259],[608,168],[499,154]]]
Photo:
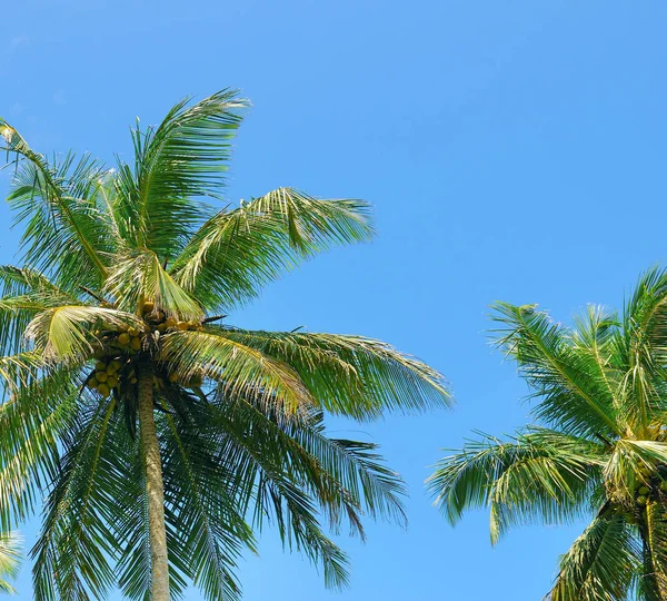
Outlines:
[[[229,197],[296,186],[376,206],[371,245],[270,286],[239,325],[359,333],[419,355],[454,411],[337,430],[382,444],[410,526],[341,541],[351,588],[327,592],[276,533],[243,562],[248,601],[540,599],[581,524],[489,546],[486,512],[450,529],[424,492],[441,447],[526,423],[526,394],[485,331],[495,299],[567,321],[620,305],[667,252],[664,2],[30,1],[3,8],[0,115],[38,149],[129,152],[136,116],[239,87]],[[7,178],[0,179],[0,190]],[[0,260],[17,233],[0,208]],[[37,521],[26,526],[30,539]],[[28,599],[28,566],[19,582]],[[196,591],[189,600],[200,599]]]

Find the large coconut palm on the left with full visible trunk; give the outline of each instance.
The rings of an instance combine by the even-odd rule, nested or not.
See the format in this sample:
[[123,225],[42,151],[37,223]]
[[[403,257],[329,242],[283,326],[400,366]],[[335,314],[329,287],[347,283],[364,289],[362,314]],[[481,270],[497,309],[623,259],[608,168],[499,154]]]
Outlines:
[[[368,240],[368,206],[280,188],[219,200],[246,102],[223,90],[132,131],[135,158],[47,158],[6,121],[23,265],[0,268],[0,526],[48,493],[32,551],[38,599],[118,584],[163,601],[191,580],[238,598],[236,561],[272,523],[347,582],[320,524],[404,520],[376,445],[325,413],[372,420],[446,405],[441,375],[360,336],[255,332],[228,312],[332,246]],[[13,160],[12,160],[13,161]]]

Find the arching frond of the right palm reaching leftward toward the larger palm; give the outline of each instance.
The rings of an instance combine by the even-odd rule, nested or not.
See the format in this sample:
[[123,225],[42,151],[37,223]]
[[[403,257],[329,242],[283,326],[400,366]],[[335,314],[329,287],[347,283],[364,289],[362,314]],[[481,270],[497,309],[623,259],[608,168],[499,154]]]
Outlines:
[[509,442],[486,436],[442,459],[429,489],[451,524],[467,509],[491,509],[491,541],[516,523],[559,523],[589,509],[600,482],[604,447],[555,431],[532,428]]

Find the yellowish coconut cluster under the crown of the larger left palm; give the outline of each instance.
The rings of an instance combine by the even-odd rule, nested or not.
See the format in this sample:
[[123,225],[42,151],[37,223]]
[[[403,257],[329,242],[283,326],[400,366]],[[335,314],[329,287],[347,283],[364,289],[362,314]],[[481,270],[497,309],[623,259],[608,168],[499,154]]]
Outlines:
[[[155,303],[143,304],[143,331],[127,324],[109,327],[104,332],[96,332],[100,335],[101,345],[96,349],[93,357],[97,359],[94,370],[90,372],[86,385],[98,392],[101,396],[109,396],[116,388],[137,384],[137,374],[132,364],[132,356],[137,355],[151,333],[165,334],[176,331],[202,329],[201,324],[196,322],[179,322],[173,317],[167,317],[163,312],[155,311]],[[177,383],[180,377],[175,372],[165,374],[170,383]],[[202,384],[202,377],[196,375],[187,382],[181,382],[190,388],[198,388]]]

